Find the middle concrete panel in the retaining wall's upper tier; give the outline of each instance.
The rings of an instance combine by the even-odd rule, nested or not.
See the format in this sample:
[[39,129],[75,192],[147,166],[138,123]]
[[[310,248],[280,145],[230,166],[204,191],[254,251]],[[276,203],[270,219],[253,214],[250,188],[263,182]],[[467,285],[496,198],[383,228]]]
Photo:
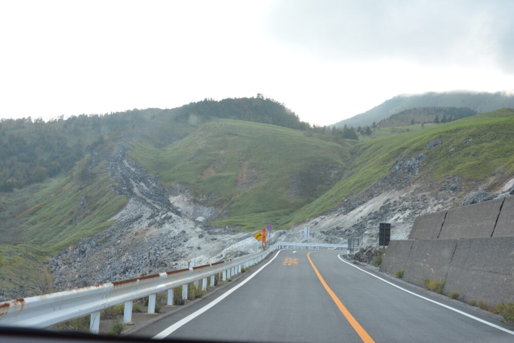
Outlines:
[[491,237],[502,199],[448,210],[439,239]]

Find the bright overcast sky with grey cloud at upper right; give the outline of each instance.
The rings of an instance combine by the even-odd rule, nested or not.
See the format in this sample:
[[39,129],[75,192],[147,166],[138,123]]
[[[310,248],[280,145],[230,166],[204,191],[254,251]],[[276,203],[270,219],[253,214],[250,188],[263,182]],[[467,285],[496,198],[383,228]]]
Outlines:
[[276,99],[331,124],[398,94],[514,93],[514,1],[4,1],[0,118]]

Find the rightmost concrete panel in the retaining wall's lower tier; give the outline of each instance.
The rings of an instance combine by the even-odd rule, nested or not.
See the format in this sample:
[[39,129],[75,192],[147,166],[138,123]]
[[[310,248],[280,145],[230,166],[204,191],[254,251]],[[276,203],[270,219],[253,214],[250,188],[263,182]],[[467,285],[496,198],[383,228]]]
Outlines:
[[514,237],[458,240],[445,294],[490,305],[514,302]]

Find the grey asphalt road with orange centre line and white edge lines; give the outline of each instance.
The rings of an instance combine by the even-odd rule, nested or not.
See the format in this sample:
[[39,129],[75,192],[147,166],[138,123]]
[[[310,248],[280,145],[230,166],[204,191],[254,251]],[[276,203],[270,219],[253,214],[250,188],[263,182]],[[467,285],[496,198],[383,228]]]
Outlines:
[[309,251],[273,253],[223,290],[136,335],[222,341],[514,342],[514,335],[479,321],[502,326],[489,316],[389,280],[476,319],[419,298],[341,261],[341,251]]

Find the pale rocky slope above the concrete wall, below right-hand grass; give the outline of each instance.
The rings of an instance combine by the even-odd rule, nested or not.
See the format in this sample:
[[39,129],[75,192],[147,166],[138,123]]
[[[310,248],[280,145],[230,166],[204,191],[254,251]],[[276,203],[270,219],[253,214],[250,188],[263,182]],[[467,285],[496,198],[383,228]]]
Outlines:
[[391,223],[391,239],[407,239],[417,215],[470,205],[514,194],[512,175],[491,175],[481,181],[464,181],[448,176],[442,185],[428,178],[412,180],[417,156],[397,159],[390,174],[354,198],[287,231],[281,239],[303,242],[303,227],[310,226],[310,242],[345,244],[347,238],[361,238],[360,248],[378,245],[378,224]]

